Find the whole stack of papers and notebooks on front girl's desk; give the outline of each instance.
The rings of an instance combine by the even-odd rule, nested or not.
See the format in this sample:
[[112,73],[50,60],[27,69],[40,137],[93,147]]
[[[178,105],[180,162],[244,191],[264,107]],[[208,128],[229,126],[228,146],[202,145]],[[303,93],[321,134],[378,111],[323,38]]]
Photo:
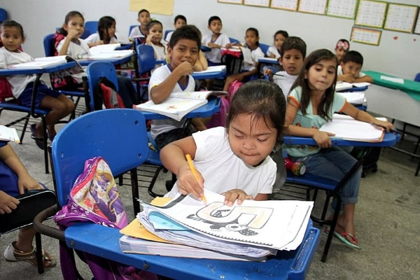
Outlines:
[[[301,244],[313,207],[313,202],[253,200],[228,207],[223,195],[209,190],[204,195],[207,205],[182,195],[162,207],[142,202],[144,211],[138,220],[153,235],[187,246],[171,255],[196,258],[197,250],[205,250],[216,254],[209,258],[265,260],[277,250],[295,250]],[[138,246],[144,242],[134,240],[121,237],[122,250],[168,255],[174,249],[160,242],[145,252]]]

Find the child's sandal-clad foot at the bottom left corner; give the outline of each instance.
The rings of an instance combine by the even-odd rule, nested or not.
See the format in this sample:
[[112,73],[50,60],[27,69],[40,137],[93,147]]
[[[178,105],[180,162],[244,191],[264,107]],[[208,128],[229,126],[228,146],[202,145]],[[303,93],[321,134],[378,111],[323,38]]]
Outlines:
[[[29,262],[31,265],[34,265],[34,267],[38,267],[38,263],[36,261],[36,248],[30,252],[24,252],[15,248],[15,244],[16,241],[13,241],[7,246],[4,251],[4,258],[6,258],[9,262]],[[55,258],[45,251],[42,251],[42,257],[44,268],[54,267],[57,263]]]

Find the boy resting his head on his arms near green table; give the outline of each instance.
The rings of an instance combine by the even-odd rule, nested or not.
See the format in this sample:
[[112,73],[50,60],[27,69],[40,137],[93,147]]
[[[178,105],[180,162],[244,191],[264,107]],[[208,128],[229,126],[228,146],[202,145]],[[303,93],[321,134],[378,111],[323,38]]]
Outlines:
[[371,76],[361,72],[363,66],[363,56],[356,50],[350,50],[344,55],[342,62],[337,67],[337,80],[347,83],[373,83]]

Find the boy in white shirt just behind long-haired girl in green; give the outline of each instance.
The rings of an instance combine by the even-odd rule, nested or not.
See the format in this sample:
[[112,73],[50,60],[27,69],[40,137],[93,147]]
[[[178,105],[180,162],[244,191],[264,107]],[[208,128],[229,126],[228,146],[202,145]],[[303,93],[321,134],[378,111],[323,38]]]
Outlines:
[[278,71],[273,75],[271,69],[265,69],[264,75],[269,76],[269,80],[273,81],[281,87],[283,94],[287,99],[290,87],[299,75],[302,68],[304,57],[306,55],[307,45],[299,37],[288,37],[280,48],[280,63],[284,71]]

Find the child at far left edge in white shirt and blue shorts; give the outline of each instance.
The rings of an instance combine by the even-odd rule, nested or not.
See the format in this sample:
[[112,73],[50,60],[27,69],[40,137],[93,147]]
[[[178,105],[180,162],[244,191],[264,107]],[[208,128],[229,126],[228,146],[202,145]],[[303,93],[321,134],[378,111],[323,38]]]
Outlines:
[[[14,20],[6,20],[1,24],[0,40],[3,47],[0,48],[0,69],[10,68],[15,64],[34,61],[26,52],[19,50],[20,45],[25,43],[23,27]],[[36,75],[8,76],[8,82],[12,88],[13,96],[18,99],[20,105],[31,106],[32,92]],[[41,81],[36,88],[36,108],[48,109],[50,112],[45,116],[48,130],[48,138],[52,141],[55,134],[55,124],[68,116],[74,110],[74,103],[59,92],[52,90]],[[31,125],[32,139],[36,146],[43,149],[43,124],[42,122]]]

